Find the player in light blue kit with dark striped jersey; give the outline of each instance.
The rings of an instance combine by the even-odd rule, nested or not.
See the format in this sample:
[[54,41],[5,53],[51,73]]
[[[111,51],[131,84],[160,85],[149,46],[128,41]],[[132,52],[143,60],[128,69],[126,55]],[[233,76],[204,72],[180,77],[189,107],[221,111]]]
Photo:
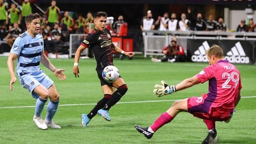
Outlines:
[[[44,40],[40,32],[39,14],[30,14],[25,18],[27,31],[17,37],[12,45],[7,65],[11,75],[10,90],[16,82],[14,72],[14,61],[17,59],[16,74],[22,87],[28,89],[33,98],[37,99],[33,121],[40,129],[55,128],[60,126],[54,124],[52,119],[57,111],[59,94],[53,81],[40,69],[40,62],[49,68],[59,80],[65,80],[62,73],[65,69],[57,69],[44,55]],[[45,104],[47,106],[45,121],[41,118],[41,112]]]

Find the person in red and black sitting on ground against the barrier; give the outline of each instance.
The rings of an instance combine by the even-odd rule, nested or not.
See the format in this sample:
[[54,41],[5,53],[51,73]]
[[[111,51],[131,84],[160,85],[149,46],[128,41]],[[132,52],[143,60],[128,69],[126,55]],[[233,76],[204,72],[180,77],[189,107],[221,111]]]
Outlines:
[[183,46],[177,44],[177,37],[173,37],[169,45],[162,50],[164,56],[161,59],[152,58],[153,62],[184,62],[186,60]]

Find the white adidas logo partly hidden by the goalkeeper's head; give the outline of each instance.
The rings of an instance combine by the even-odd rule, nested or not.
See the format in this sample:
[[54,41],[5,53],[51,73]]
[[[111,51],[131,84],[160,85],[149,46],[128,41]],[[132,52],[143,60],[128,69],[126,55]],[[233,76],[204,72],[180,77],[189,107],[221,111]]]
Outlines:
[[198,50],[194,52],[194,55],[191,57],[191,60],[194,62],[208,62],[205,51],[210,49],[210,46],[207,41],[203,42],[203,45],[198,47]]

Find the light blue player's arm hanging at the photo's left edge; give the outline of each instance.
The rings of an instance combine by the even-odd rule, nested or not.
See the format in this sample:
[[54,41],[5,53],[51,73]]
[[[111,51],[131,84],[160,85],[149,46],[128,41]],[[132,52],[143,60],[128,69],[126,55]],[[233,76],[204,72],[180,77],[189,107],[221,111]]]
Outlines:
[[10,90],[12,90],[12,85],[16,82],[16,76],[15,76],[13,63],[17,58],[18,58],[18,55],[10,53],[8,60],[7,60],[8,69],[9,69],[9,72],[11,75]]

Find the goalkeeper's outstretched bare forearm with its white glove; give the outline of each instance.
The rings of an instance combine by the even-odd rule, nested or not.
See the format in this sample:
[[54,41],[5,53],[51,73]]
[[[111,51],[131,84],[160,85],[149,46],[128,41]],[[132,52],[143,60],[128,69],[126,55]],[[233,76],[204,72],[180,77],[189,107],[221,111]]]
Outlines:
[[194,76],[192,78],[185,79],[177,85],[169,86],[164,81],[161,81],[161,83],[162,85],[155,85],[154,93],[157,95],[157,97],[162,97],[163,95],[171,94],[176,91],[183,90],[193,85],[199,84],[200,80],[197,78],[197,76]]

